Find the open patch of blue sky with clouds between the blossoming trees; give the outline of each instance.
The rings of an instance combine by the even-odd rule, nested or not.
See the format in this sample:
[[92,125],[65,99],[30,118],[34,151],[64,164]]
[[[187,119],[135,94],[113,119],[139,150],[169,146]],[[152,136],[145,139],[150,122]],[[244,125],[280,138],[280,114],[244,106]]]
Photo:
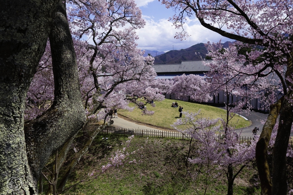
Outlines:
[[185,30],[190,37],[180,41],[174,38],[179,29],[175,29],[172,22],[168,21],[168,18],[175,14],[172,9],[167,9],[158,0],[135,0],[135,2],[142,10],[146,21],[143,29],[136,30],[139,36],[137,44],[141,49],[166,52],[172,50],[173,46],[174,49],[185,49],[197,43],[218,42],[220,39],[222,42],[230,40],[202,27],[196,18],[191,18],[185,24]]

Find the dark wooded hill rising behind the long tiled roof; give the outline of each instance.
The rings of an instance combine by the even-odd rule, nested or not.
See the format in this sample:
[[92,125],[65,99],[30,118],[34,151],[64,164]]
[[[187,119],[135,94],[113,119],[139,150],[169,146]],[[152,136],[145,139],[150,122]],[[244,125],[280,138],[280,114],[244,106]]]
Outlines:
[[[229,42],[227,41],[223,43],[223,46],[228,47],[228,44]],[[205,45],[203,43],[198,43],[186,49],[171,50],[153,57],[155,57],[154,64],[180,64],[181,61],[201,60],[200,56],[204,59],[206,55],[207,49]]]

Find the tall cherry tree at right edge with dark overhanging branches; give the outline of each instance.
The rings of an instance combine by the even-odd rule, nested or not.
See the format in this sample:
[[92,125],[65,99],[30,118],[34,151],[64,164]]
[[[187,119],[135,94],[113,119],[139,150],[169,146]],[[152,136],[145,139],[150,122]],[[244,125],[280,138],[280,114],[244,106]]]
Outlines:
[[[247,84],[261,77],[278,77],[283,97],[270,105],[270,115],[263,127],[256,146],[256,159],[264,194],[286,194],[286,152],[293,121],[292,99],[292,1],[169,1],[162,0],[167,8],[173,8],[174,25],[184,27],[185,18],[195,16],[203,27],[224,37],[237,40],[238,49],[251,48],[245,55],[234,56],[241,61],[242,69],[235,69],[249,77]],[[188,36],[184,28],[176,38]],[[277,138],[274,144],[272,173],[266,159],[268,141],[280,113]],[[272,175],[272,177],[271,177]],[[272,179],[271,179],[272,178]]]

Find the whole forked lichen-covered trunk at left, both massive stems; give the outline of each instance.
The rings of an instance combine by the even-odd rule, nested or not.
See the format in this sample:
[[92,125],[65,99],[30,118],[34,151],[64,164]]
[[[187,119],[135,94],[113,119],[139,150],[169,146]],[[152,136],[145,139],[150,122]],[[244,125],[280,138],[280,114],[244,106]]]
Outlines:
[[[58,3],[1,2],[0,194],[37,194],[36,183],[47,159],[85,121],[65,3],[60,1],[55,15]],[[55,100],[43,115],[24,124],[25,97],[49,33]],[[6,186],[11,177],[21,179],[18,191]]]

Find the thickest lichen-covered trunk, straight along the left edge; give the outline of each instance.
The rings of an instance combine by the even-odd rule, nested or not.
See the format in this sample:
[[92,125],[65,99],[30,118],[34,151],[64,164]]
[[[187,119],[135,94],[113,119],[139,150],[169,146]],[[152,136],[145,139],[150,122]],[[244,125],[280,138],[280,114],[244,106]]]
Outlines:
[[[45,50],[57,3],[0,2],[0,194],[37,193],[38,178],[28,164],[23,116],[25,97]],[[19,190],[7,187],[11,177],[22,181]]]

